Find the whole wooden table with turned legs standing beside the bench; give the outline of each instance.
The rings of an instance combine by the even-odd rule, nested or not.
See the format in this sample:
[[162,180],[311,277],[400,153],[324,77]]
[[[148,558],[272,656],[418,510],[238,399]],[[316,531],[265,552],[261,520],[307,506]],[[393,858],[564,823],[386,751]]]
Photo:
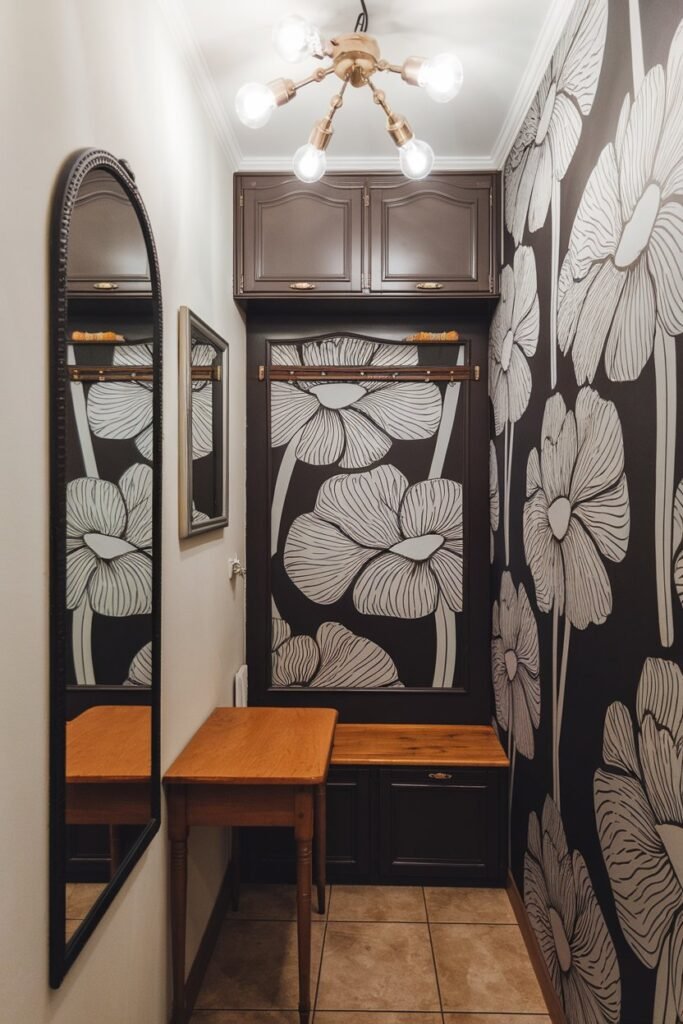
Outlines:
[[310,1014],[313,821],[325,900],[325,782],[337,712],[217,708],[164,776],[171,842],[172,1024],[185,1024],[187,834],[191,825],[284,825],[297,847],[299,1019]]

